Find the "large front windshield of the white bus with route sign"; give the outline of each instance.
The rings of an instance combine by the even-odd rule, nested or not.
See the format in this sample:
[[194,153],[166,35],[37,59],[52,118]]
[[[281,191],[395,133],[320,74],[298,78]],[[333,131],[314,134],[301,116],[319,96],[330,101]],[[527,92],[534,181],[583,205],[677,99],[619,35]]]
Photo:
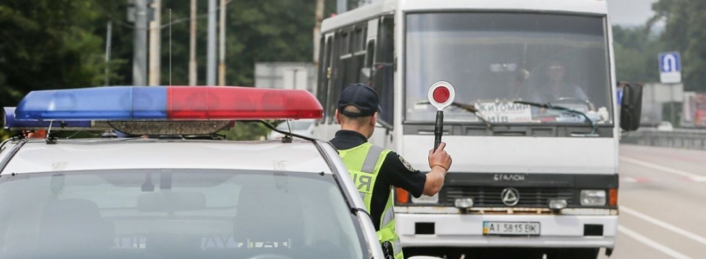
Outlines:
[[[446,81],[457,103],[490,122],[585,123],[575,114],[513,101],[551,103],[611,123],[611,84],[604,18],[546,13],[411,13],[406,16],[406,121],[434,120],[424,101]],[[445,120],[477,122],[448,108]]]

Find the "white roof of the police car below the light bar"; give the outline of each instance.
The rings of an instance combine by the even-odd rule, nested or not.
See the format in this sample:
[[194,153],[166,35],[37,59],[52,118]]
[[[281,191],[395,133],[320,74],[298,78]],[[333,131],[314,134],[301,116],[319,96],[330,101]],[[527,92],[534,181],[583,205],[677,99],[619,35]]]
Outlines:
[[[8,150],[11,149],[10,145]],[[7,152],[6,150],[5,152]],[[232,169],[331,174],[324,153],[311,141],[194,141],[70,139],[30,140],[2,174],[66,170]]]

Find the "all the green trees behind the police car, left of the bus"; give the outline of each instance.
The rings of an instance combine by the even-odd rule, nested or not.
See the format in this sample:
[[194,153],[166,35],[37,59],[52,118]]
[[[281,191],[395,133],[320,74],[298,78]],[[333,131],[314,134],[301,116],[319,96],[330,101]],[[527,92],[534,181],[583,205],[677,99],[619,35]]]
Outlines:
[[[172,11],[172,84],[189,84],[190,0],[162,0]],[[227,6],[228,85],[252,86],[255,62],[310,62],[316,0],[231,0]],[[325,16],[335,0],[325,1]],[[128,0],[0,1],[0,107],[29,91],[132,84],[133,23]],[[198,84],[205,84],[208,1],[198,0]],[[112,21],[111,61],[105,62]],[[169,33],[162,30],[162,84],[169,82]],[[109,68],[109,73],[105,73]],[[265,132],[255,130],[256,134]],[[8,136],[0,131],[0,139]],[[237,138],[249,138],[233,134]]]

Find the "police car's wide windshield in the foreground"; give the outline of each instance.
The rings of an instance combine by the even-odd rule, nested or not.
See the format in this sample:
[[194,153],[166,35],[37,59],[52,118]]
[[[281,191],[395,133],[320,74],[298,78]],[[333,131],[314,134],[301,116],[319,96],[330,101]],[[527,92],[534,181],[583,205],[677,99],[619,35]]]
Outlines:
[[3,175],[0,258],[368,258],[331,175],[107,170]]

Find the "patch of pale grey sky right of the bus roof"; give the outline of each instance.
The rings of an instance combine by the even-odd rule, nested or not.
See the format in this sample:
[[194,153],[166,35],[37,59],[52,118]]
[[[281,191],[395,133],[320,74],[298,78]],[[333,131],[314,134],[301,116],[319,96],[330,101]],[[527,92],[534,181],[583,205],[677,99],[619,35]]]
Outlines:
[[657,0],[606,0],[613,25],[643,25],[652,17],[652,3]]

